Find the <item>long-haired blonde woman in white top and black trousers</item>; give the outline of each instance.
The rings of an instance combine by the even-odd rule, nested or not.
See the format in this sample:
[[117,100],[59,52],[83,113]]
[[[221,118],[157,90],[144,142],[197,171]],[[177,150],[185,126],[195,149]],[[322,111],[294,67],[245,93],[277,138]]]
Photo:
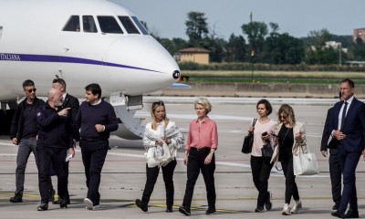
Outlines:
[[163,182],[166,188],[166,212],[172,212],[173,205],[173,171],[176,167],[177,150],[183,146],[183,133],[175,122],[167,119],[165,105],[162,101],[152,103],[152,121],[146,124],[143,144],[146,148],[147,181],[144,186],[142,198],[136,204],[143,212],[148,212],[148,203],[151,193],[162,167]]

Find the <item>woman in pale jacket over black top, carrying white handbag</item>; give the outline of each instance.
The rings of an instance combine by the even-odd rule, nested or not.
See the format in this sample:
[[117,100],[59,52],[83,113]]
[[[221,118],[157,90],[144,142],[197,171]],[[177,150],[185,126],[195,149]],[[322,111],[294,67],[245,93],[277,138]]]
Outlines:
[[[303,123],[296,120],[294,110],[287,104],[281,105],[277,112],[279,124],[276,128],[275,147],[271,162],[281,162],[286,177],[285,204],[281,214],[297,214],[302,208],[297,190],[296,176],[293,169],[293,155],[299,153],[301,146],[307,145],[306,130]],[[290,210],[291,197],[294,198],[294,206]]]

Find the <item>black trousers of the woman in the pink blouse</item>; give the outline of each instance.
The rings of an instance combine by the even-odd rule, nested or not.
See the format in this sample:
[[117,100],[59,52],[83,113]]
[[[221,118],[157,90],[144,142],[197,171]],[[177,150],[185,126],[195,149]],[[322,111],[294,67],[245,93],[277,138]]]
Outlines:
[[206,189],[206,198],[209,208],[215,208],[215,186],[214,186],[214,171],[215,171],[215,156],[213,155],[212,162],[208,165],[204,164],[206,156],[210,150],[197,151],[193,148],[189,152],[187,166],[187,182],[185,195],[183,197],[183,206],[190,209],[193,200],[193,189],[198,179],[199,173],[202,171]]

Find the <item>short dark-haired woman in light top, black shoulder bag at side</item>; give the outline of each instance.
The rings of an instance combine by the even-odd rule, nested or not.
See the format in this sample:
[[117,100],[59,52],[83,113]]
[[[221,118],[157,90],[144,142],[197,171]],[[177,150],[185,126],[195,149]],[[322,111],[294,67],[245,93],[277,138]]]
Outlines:
[[271,210],[271,193],[267,191],[268,178],[270,177],[271,168],[273,163],[270,162],[271,157],[266,158],[263,156],[261,149],[264,144],[274,146],[273,133],[276,126],[276,121],[268,118],[273,108],[266,99],[258,100],[256,104],[256,110],[258,119],[255,122],[255,127],[252,125],[248,128],[249,132],[254,133],[254,144],[251,151],[251,171],[252,179],[255,184],[255,188],[258,191],[257,205],[255,212],[264,212],[264,205],[266,211]]

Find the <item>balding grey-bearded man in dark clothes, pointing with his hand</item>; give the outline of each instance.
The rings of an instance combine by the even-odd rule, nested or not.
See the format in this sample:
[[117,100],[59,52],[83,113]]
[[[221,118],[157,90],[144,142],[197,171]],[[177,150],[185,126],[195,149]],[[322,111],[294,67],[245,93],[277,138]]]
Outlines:
[[36,142],[36,153],[38,156],[39,171],[39,192],[41,204],[38,211],[47,211],[49,202],[49,168],[51,163],[55,168],[58,183],[57,191],[59,205],[67,208],[65,199],[67,187],[67,174],[65,162],[68,156],[67,151],[75,154],[73,149],[72,124],[69,108],[61,109],[62,93],[59,89],[51,88],[48,91],[47,103],[36,110],[36,123],[38,124],[38,140]]

